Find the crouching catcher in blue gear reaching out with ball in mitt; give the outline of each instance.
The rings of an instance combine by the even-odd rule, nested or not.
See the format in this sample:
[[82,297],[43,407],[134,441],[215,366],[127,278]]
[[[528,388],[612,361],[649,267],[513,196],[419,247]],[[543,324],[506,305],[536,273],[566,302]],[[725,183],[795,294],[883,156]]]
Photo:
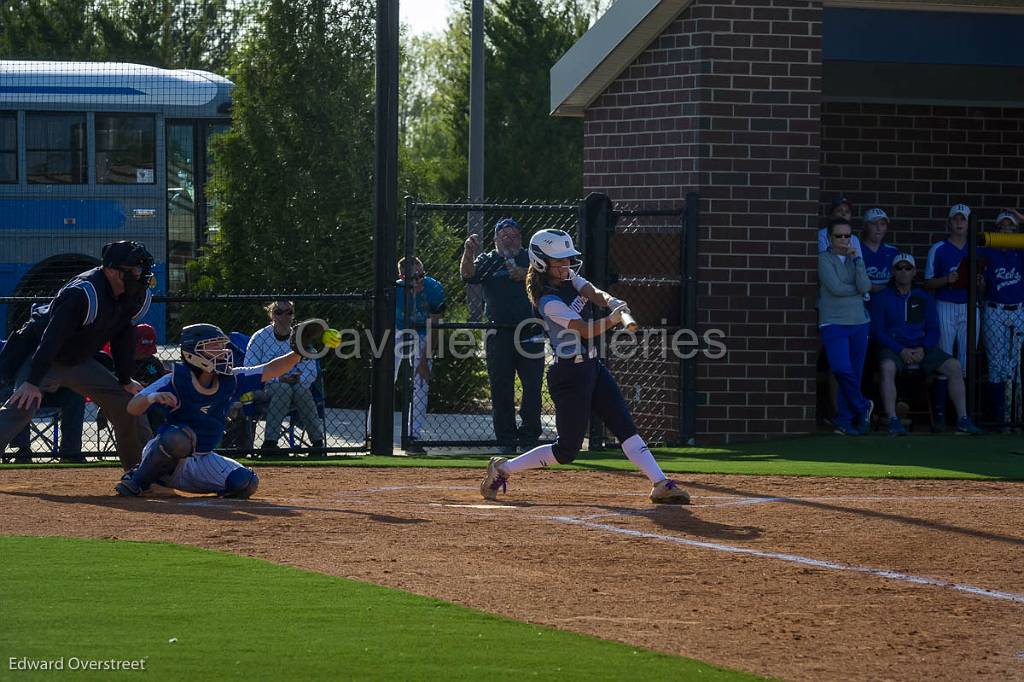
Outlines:
[[181,361],[129,402],[139,416],[154,406],[167,411],[159,435],[142,449],[142,461],[122,476],[118,495],[137,497],[153,483],[185,493],[215,493],[249,498],[259,476],[249,467],[217,455],[231,403],[257,390],[324,347],[336,348],[340,335],[322,319],[307,319],[292,330],[292,351],[257,367],[234,367],[227,336],[214,325],[189,325],[181,330]]

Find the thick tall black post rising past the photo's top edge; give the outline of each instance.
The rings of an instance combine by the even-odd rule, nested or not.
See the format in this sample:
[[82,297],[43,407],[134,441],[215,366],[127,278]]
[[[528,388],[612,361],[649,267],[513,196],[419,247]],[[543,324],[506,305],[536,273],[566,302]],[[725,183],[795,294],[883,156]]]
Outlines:
[[374,357],[370,452],[394,452],[394,267],[398,222],[398,0],[377,0],[374,159]]

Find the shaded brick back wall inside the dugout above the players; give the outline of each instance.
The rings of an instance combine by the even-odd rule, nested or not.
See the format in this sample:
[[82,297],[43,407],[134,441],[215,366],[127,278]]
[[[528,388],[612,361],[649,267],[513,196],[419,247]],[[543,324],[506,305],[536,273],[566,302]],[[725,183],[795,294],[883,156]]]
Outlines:
[[966,203],[983,228],[1021,206],[1024,110],[826,102],[821,188],[823,202],[847,193],[858,214],[881,206],[887,241],[923,259],[950,205]]

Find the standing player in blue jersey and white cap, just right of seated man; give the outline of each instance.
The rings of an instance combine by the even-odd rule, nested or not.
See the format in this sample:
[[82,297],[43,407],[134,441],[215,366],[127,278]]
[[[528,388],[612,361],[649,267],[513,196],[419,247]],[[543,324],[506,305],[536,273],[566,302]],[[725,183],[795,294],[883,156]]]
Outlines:
[[935,292],[939,315],[939,347],[952,355],[955,344],[961,371],[967,367],[967,288],[959,281],[958,268],[967,257],[970,217],[971,209],[965,204],[949,209],[949,236],[932,245],[925,264],[925,289]]

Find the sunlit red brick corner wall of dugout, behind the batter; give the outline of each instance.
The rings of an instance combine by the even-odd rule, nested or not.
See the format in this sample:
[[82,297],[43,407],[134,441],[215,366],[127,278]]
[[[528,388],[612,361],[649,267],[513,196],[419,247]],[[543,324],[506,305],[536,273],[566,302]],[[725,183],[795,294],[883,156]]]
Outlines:
[[[819,2],[697,0],[587,111],[584,185],[618,204],[702,197],[701,440],[814,428]],[[614,253],[614,252],[613,252]]]

